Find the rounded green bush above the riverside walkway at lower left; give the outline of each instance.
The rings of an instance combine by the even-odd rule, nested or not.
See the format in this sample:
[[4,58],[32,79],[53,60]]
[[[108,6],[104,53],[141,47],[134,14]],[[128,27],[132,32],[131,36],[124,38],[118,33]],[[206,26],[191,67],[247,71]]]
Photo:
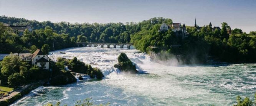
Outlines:
[[8,85],[17,87],[20,86],[21,84],[24,84],[25,82],[25,77],[23,77],[20,73],[14,73],[8,77]]

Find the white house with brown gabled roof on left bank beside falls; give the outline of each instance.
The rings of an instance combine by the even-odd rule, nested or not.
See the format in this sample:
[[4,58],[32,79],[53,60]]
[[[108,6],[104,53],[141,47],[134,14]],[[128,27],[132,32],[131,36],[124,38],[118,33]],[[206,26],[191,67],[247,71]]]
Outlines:
[[[21,56],[22,57],[22,56]],[[32,65],[43,67],[43,69],[49,69],[49,57],[40,49],[36,50],[33,54],[27,55],[21,58],[23,61],[31,61]]]

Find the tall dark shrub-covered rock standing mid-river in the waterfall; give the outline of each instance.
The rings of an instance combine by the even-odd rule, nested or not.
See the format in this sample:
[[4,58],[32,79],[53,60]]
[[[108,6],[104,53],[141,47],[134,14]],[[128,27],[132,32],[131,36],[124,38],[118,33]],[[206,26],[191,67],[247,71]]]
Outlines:
[[121,72],[130,72],[132,74],[138,73],[136,66],[130,61],[125,53],[121,53],[118,56],[118,64],[115,64],[114,67],[118,68]]

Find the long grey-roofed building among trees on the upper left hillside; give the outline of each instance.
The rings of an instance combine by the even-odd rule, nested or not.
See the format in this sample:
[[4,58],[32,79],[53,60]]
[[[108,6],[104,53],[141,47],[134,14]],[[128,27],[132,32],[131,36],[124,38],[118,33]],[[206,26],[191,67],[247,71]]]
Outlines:
[[23,35],[23,32],[25,31],[25,29],[28,29],[28,31],[32,31],[30,26],[17,26],[17,25],[11,25],[11,24],[4,24],[5,27],[10,27],[12,29],[12,33],[15,33],[16,31],[18,31],[18,35]]

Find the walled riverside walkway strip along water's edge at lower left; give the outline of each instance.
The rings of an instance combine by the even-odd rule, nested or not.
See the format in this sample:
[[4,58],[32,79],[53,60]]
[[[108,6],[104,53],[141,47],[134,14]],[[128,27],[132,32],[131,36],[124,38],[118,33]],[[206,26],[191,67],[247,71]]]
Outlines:
[[20,88],[11,92],[8,96],[0,99],[1,106],[8,106],[14,101],[22,98],[24,95],[30,93],[30,91],[42,86],[45,81],[40,81],[32,84],[28,84],[25,86],[21,86]]

